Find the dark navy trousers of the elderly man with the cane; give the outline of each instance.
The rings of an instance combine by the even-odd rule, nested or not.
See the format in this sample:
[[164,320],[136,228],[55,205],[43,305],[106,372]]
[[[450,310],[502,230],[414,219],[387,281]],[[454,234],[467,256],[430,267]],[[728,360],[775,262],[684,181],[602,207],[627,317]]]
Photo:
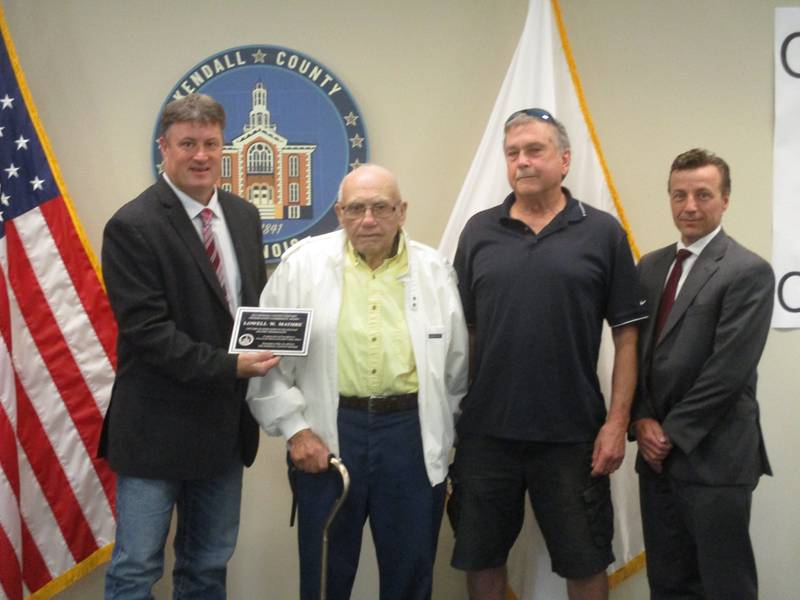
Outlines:
[[[430,599],[445,486],[432,487],[428,480],[417,410],[371,414],[342,408],[338,428],[340,454],[351,482],[329,532],[328,598],[350,598],[369,517],[380,599]],[[341,481],[333,470],[298,474],[303,600],[319,598],[322,527],[340,492]]]

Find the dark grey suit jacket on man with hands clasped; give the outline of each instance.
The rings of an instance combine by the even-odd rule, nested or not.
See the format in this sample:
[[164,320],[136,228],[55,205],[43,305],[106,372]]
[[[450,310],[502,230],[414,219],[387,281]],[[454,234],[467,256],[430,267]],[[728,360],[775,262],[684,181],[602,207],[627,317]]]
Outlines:
[[[729,238],[697,258],[661,337],[655,314],[675,245],[642,258],[639,276],[651,318],[639,336],[633,419],[659,421],[674,448],[672,477],[707,485],[754,485],[771,474],[759,425],[756,367],[772,315],[770,265]],[[641,456],[637,470],[649,470]]]

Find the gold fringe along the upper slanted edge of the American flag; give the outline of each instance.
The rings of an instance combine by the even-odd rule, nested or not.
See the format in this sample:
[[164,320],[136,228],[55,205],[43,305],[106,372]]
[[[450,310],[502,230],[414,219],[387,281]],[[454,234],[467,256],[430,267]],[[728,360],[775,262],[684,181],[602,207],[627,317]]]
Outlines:
[[17,49],[11,39],[11,33],[8,30],[8,23],[6,23],[6,15],[2,6],[0,6],[0,32],[2,32],[3,41],[6,45],[8,60],[11,63],[11,67],[14,69],[14,75],[17,77],[17,83],[20,91],[22,92],[23,100],[25,105],[28,107],[28,114],[31,117],[33,129],[39,136],[39,143],[42,145],[44,155],[47,158],[48,164],[50,165],[50,171],[53,173],[53,179],[56,182],[56,186],[58,187],[58,191],[60,192],[61,198],[64,201],[64,205],[67,207],[67,211],[69,212],[70,219],[72,220],[72,226],[75,228],[75,232],[78,234],[78,238],[81,241],[83,250],[86,252],[86,256],[89,258],[89,262],[97,274],[97,278],[100,280],[100,285],[103,286],[103,290],[105,290],[106,284],[105,281],[103,281],[103,273],[100,269],[100,263],[97,262],[97,257],[92,251],[92,247],[89,244],[89,239],[86,237],[86,232],[83,230],[83,226],[81,225],[77,213],[75,212],[75,208],[72,205],[72,198],[67,192],[67,186],[64,183],[64,179],[61,177],[61,169],[58,166],[58,161],[53,153],[53,149],[50,147],[50,138],[47,137],[47,134],[44,131],[42,122],[39,119],[39,113],[36,110],[36,105],[33,102],[33,97],[28,89],[28,82],[25,80],[25,73],[23,72],[22,65],[19,62]]

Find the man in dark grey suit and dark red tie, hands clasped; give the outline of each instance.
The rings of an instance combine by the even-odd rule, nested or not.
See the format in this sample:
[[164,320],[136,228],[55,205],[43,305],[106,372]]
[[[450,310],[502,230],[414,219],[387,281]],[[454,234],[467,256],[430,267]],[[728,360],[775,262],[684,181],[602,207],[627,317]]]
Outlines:
[[[769,331],[769,264],[728,237],[730,171],[679,155],[669,198],[680,240],[639,264],[651,319],[633,409],[647,574],[654,599],[754,599],[752,492],[771,475],[756,367]],[[674,302],[674,303],[673,303]]]

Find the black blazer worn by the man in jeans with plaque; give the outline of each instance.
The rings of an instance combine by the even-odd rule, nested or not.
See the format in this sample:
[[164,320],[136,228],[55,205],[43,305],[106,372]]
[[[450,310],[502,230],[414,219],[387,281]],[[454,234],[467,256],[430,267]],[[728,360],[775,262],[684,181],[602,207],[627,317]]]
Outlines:
[[[241,304],[257,306],[266,282],[258,211],[221,190],[218,198]],[[250,465],[258,426],[227,351],[233,318],[200,236],[163,178],[108,222],[102,263],[119,337],[100,455],[119,473],[157,479],[214,477],[237,455]]]

